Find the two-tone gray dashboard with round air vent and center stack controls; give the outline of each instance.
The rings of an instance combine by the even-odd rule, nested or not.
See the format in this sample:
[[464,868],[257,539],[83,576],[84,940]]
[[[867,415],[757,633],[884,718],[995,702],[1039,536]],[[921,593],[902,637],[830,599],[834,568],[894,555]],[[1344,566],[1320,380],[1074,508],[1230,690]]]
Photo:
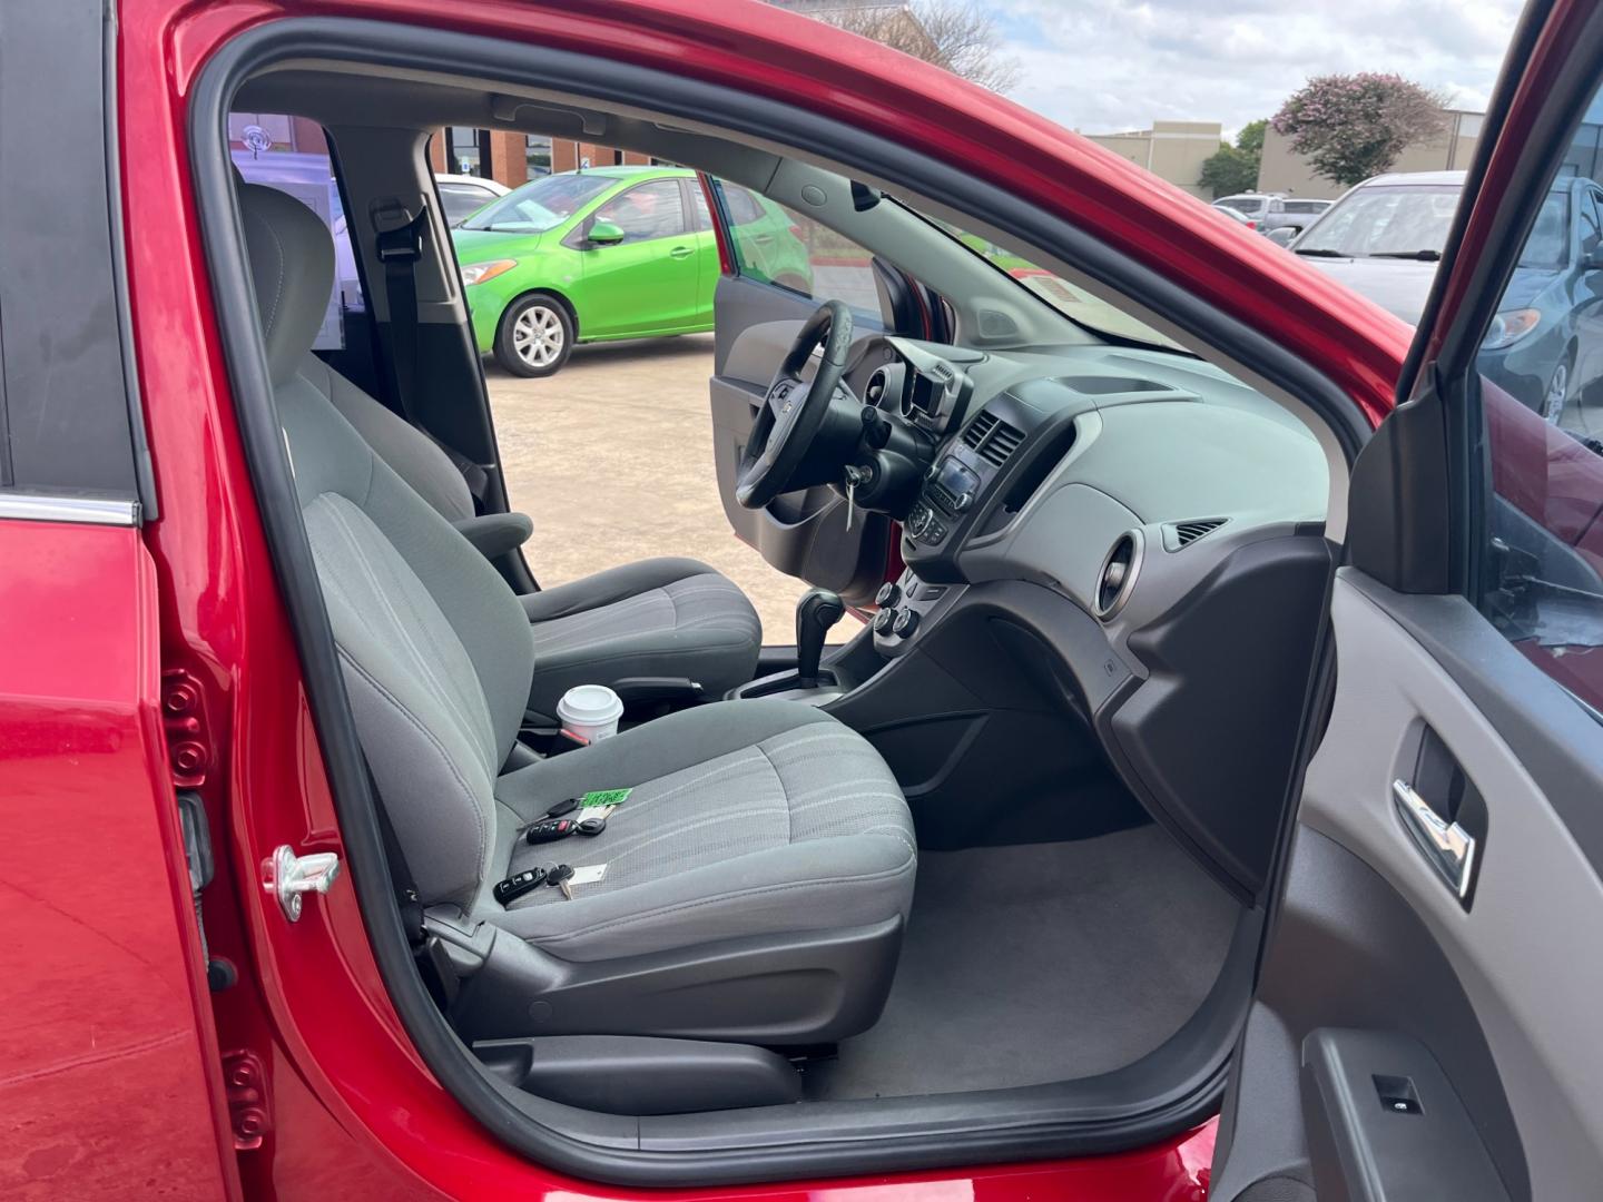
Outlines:
[[1016,627],[1023,668],[1061,684],[1148,811],[1252,896],[1330,571],[1314,436],[1161,351],[866,335],[850,362],[853,393],[928,447],[878,655],[962,662],[983,688],[971,649]]

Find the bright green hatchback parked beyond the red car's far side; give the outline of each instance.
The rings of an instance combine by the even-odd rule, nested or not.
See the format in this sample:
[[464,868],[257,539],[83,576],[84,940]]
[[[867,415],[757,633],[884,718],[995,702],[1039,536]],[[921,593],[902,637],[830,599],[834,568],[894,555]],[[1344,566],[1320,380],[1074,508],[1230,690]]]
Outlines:
[[[742,269],[811,293],[785,212],[720,184]],[[531,179],[452,231],[481,354],[551,375],[577,341],[712,329],[718,244],[694,171],[593,167]]]

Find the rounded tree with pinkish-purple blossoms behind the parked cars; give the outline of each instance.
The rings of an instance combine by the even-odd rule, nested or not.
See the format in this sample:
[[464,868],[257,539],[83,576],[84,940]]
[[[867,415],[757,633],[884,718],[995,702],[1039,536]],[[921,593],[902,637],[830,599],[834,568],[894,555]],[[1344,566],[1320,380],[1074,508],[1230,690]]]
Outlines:
[[1313,168],[1351,188],[1380,175],[1406,146],[1448,127],[1446,98],[1401,75],[1319,75],[1274,114],[1274,131]]

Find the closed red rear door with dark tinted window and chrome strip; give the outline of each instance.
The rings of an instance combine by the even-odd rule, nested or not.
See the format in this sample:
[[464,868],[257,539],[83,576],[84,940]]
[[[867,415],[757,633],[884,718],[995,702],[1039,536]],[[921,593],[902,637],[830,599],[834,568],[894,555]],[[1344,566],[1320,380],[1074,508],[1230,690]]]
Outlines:
[[[175,795],[218,764],[160,675],[101,91],[63,87],[98,85],[111,29],[35,5],[0,34],[0,1196],[232,1197]],[[46,125],[83,154],[35,154]]]

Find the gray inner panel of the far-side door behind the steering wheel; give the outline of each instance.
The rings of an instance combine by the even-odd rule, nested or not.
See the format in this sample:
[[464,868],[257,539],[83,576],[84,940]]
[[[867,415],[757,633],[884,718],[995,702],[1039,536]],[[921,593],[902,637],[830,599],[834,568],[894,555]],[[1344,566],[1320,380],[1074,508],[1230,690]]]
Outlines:
[[[729,526],[777,571],[866,604],[885,579],[891,522],[858,511],[830,487],[785,494],[765,510],[734,500],[734,478],[774,369],[818,308],[810,298],[739,276],[718,280],[712,397],[713,463]],[[848,372],[850,378],[850,372]]]

